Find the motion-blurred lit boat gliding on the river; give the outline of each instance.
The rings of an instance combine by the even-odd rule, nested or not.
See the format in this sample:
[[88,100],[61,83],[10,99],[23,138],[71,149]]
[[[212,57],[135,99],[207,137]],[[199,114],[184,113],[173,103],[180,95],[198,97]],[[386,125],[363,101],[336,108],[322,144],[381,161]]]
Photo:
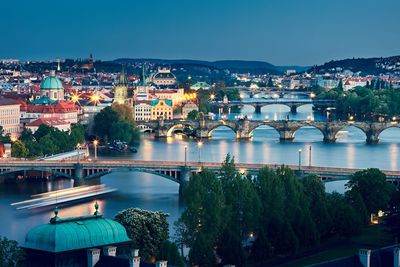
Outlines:
[[117,189],[108,188],[104,184],[78,186],[33,195],[31,196],[32,199],[15,202],[12,203],[11,206],[16,206],[17,210],[31,210],[54,205],[66,205],[71,202],[81,201],[91,197],[98,197],[115,191],[117,191]]

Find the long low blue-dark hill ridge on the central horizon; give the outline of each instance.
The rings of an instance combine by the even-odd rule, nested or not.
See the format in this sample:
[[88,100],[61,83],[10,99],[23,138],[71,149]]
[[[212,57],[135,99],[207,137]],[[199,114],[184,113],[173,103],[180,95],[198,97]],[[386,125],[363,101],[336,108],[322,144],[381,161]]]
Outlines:
[[228,70],[230,72],[238,73],[253,73],[253,74],[280,74],[282,71],[274,65],[263,61],[246,61],[246,60],[218,60],[218,61],[204,61],[204,60],[190,60],[190,59],[150,59],[150,58],[119,58],[114,60],[118,63],[141,64],[148,62],[150,64],[167,64],[173,68],[183,67],[189,71],[192,68],[206,67],[210,71],[215,69]]

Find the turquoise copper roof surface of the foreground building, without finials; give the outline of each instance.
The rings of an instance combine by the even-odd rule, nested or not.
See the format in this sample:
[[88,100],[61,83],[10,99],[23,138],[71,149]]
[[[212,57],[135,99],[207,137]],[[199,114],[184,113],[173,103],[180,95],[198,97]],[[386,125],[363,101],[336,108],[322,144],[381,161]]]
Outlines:
[[131,241],[120,223],[101,216],[53,219],[30,230],[23,247],[56,253]]

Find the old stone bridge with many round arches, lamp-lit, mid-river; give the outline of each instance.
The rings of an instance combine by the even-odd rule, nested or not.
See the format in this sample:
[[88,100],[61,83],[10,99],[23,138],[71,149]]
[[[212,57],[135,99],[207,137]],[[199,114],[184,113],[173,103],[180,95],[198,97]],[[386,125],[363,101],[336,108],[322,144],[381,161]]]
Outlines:
[[[398,122],[352,122],[352,121],[253,121],[248,119],[240,120],[208,120],[197,121],[184,120],[158,120],[138,121],[138,126],[145,126],[151,129],[156,137],[164,138],[173,135],[174,131],[182,128],[190,128],[199,139],[210,138],[212,132],[221,126],[232,129],[237,139],[250,139],[253,131],[260,126],[268,126],[279,133],[281,140],[293,140],[295,133],[302,127],[314,127],[321,131],[324,141],[333,143],[336,141],[337,133],[345,127],[353,126],[366,135],[366,142],[376,144],[379,142],[379,135],[385,129],[391,127],[400,128]],[[399,137],[400,138],[400,137]]]

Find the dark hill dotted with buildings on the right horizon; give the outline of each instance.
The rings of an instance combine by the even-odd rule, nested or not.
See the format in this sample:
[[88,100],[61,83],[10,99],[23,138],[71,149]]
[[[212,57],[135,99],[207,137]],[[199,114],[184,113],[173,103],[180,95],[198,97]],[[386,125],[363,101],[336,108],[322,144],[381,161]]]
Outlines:
[[332,60],[323,65],[316,66],[316,71],[319,73],[332,72],[338,68],[351,70],[352,72],[360,71],[363,75],[395,73],[400,72],[400,56]]

